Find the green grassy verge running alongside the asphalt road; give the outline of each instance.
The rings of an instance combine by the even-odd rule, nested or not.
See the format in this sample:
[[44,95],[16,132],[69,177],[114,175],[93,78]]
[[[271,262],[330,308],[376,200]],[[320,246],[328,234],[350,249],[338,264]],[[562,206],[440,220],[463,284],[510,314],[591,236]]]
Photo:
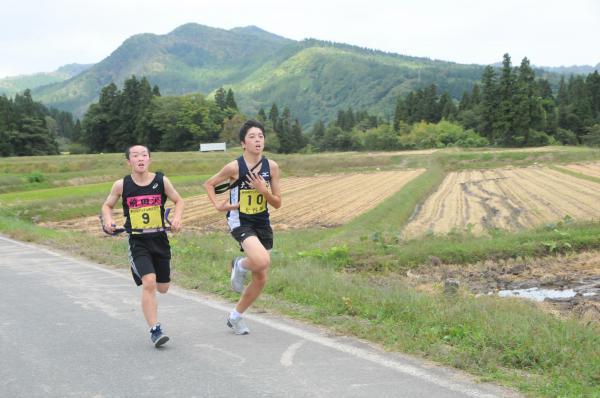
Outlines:
[[[111,266],[126,267],[123,239],[52,231],[0,217],[0,230]],[[315,232],[315,234],[318,234]],[[467,370],[531,396],[595,396],[600,328],[559,320],[518,299],[418,292],[398,273],[353,270],[354,254],[301,256],[294,233],[278,235],[273,268],[256,308],[277,311]],[[237,253],[226,234],[172,238],[175,283],[234,300],[226,267]],[[457,250],[462,249],[458,248]],[[373,271],[373,270],[370,270]]]

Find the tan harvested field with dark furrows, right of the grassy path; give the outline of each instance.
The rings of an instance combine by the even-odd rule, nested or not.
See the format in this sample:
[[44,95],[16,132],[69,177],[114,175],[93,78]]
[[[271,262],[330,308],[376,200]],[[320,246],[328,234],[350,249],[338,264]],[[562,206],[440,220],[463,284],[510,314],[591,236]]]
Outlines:
[[449,173],[415,212],[406,237],[452,230],[515,231],[565,216],[600,218],[600,184],[545,167]]

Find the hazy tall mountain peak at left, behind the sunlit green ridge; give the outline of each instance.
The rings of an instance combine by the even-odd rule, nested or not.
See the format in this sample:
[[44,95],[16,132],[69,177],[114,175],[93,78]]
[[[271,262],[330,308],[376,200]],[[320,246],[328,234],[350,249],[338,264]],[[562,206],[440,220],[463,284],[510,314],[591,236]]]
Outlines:
[[161,93],[210,93],[230,86],[293,41],[256,27],[232,31],[186,24],[167,35],[139,34],[110,56],[68,81],[32,90],[46,104],[82,115],[111,82],[146,76]]

